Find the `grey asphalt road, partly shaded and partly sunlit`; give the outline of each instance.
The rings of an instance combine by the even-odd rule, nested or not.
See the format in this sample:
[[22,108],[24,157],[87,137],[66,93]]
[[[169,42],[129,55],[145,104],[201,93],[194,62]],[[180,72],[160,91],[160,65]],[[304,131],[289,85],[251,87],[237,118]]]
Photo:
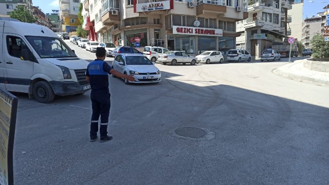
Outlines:
[[329,87],[271,72],[287,60],[157,63],[158,84],[109,77],[106,143],[89,142],[90,92],[15,93],[15,185],[329,184]]

